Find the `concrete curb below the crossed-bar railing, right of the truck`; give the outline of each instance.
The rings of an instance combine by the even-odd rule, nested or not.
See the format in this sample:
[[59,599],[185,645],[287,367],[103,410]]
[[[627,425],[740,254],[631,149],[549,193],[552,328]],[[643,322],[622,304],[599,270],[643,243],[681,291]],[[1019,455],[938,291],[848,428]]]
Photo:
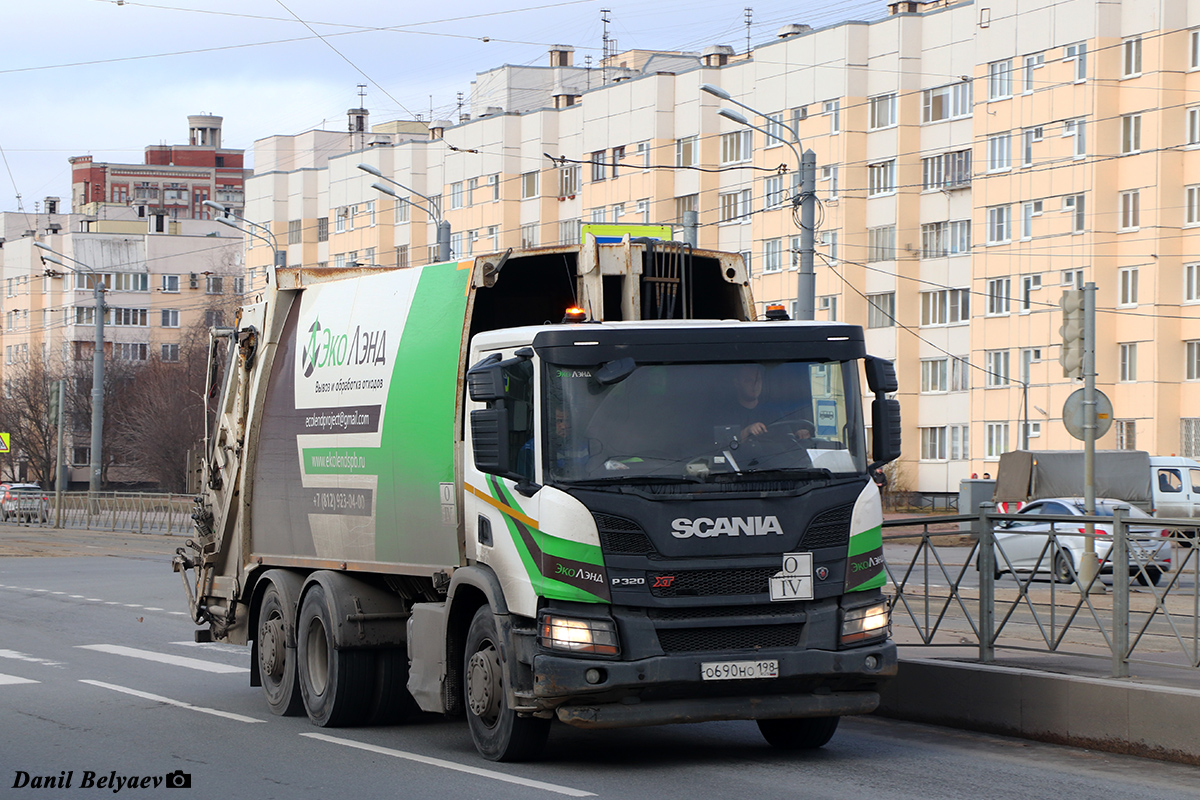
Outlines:
[[1200,691],[907,658],[875,714],[1200,765]]

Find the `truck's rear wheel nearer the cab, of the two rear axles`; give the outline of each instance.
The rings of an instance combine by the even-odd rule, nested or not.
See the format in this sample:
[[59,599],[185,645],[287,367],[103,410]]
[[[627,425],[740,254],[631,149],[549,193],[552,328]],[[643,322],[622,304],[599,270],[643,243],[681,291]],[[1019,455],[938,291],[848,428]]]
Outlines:
[[300,694],[313,724],[361,724],[371,712],[374,654],[334,648],[334,614],[319,583],[308,587],[296,624]]

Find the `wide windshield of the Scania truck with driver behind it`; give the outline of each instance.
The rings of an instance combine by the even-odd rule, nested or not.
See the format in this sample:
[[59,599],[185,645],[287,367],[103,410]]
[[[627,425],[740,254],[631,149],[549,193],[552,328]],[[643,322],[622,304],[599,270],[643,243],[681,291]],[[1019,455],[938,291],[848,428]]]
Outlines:
[[546,366],[547,480],[865,471],[854,361],[638,363],[608,385],[606,372]]

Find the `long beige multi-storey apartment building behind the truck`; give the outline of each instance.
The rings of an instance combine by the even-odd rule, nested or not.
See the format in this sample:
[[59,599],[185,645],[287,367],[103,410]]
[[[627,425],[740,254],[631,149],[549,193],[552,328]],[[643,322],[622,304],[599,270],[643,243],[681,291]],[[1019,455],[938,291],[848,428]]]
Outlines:
[[[764,306],[796,299],[796,151],[811,149],[816,315],[896,361],[906,487],[955,493],[1007,450],[1081,447],[1062,423],[1079,384],[1057,362],[1058,300],[1086,282],[1116,417],[1099,446],[1200,456],[1200,0],[889,11],[787,25],[740,56],[714,43],[584,70],[554,48],[478,76],[455,122],[372,127],[353,109],[348,133],[258,142],[246,213],[289,265],[403,267],[436,255],[431,204],[460,259],[694,210],[700,246],[742,252]],[[762,131],[718,116],[728,103],[702,84]],[[248,243],[262,273],[271,249]]]

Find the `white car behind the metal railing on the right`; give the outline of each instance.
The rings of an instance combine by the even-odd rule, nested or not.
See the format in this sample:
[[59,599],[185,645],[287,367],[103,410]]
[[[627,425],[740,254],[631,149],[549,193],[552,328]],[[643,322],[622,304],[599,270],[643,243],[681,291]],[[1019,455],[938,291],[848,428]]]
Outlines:
[[[1110,498],[1096,500],[1096,515],[1111,517],[1118,505],[1129,505]],[[1073,571],[1079,571],[1086,548],[1084,521],[1078,524],[1050,522],[1046,516],[1084,517],[1082,498],[1046,498],[1026,504],[1016,518],[1008,519],[994,530],[996,540],[996,576],[1002,572],[1048,572],[1058,583],[1072,583]],[[1142,585],[1157,584],[1171,569],[1170,531],[1154,524],[1153,517],[1135,506],[1129,507],[1128,547],[1129,575],[1136,575]],[[1051,530],[1058,547],[1048,543]],[[1112,524],[1096,524],[1096,558],[1102,573],[1111,573],[1109,552],[1112,549]],[[1003,552],[1003,554],[1001,554]],[[1139,571],[1138,566],[1142,565]]]

